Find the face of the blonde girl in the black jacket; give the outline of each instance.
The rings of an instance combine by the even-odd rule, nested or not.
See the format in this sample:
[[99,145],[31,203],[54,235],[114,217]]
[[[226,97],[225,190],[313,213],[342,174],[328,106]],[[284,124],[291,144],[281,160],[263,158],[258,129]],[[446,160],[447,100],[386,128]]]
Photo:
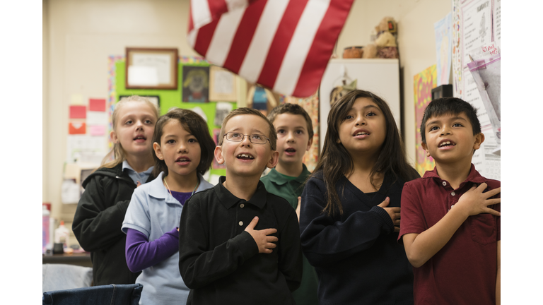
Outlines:
[[120,143],[128,155],[147,155],[151,152],[156,119],[146,102],[127,102],[119,109],[111,139]]

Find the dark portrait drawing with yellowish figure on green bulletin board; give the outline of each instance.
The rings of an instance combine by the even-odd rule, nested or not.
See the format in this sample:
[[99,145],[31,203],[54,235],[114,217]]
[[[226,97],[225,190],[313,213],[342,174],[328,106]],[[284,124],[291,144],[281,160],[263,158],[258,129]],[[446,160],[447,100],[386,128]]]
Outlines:
[[209,66],[183,66],[183,102],[209,102]]

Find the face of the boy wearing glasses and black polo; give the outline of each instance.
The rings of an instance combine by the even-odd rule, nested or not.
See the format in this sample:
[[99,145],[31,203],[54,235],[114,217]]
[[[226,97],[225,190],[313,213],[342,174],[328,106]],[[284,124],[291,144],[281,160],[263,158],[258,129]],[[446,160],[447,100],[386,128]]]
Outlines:
[[259,179],[266,167],[275,167],[278,153],[271,150],[269,140],[264,144],[254,144],[244,136],[241,142],[233,142],[226,139],[228,132],[260,134],[269,138],[269,127],[267,121],[253,114],[233,116],[226,122],[223,145],[215,148],[215,157],[219,164],[226,165],[227,176]]

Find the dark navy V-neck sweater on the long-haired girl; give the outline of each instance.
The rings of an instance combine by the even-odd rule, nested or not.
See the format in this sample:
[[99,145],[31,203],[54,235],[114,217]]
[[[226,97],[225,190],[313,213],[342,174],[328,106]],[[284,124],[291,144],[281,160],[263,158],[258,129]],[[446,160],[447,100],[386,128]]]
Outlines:
[[[385,174],[373,198],[342,177],[336,189],[343,215],[322,213],[326,186],[322,173],[302,193],[300,232],[303,253],[319,277],[319,302],[328,304],[413,304],[413,273],[388,213],[376,205],[390,197],[398,207],[404,181]],[[344,187],[343,187],[344,186]]]

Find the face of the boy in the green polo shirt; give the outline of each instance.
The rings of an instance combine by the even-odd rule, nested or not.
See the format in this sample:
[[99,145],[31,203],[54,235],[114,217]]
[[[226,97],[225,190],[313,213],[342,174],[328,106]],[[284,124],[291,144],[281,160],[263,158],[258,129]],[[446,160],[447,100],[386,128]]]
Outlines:
[[277,132],[277,152],[279,163],[297,164],[311,147],[313,138],[309,138],[308,124],[300,114],[279,114],[274,120]]

